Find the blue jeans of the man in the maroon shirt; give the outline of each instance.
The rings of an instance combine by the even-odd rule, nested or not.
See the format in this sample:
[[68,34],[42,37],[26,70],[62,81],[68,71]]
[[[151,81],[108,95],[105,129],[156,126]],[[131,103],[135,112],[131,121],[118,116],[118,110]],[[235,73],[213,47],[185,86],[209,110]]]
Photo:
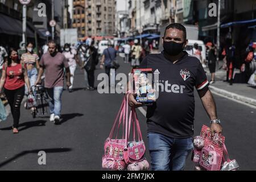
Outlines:
[[61,95],[63,93],[63,86],[55,86],[54,88],[46,88],[49,96],[49,109],[50,113],[60,117],[61,111]]

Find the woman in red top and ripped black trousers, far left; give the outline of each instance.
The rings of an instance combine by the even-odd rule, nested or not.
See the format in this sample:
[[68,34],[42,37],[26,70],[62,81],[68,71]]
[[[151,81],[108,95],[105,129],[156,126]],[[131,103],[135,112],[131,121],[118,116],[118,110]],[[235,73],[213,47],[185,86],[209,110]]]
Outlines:
[[[5,95],[11,107],[11,114],[13,115],[13,133],[19,133],[19,117],[20,104],[24,97],[25,82],[30,88],[30,81],[28,80],[26,68],[19,63],[18,53],[10,51],[8,56],[8,63],[3,65],[2,77],[0,81],[0,92],[5,88]],[[28,90],[31,93],[31,90]]]

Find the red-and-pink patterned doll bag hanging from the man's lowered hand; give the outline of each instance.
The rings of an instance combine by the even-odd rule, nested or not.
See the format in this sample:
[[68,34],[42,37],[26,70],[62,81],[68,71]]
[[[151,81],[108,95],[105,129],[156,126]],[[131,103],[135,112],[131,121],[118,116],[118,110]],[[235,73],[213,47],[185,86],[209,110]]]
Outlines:
[[207,171],[220,171],[225,137],[217,133],[214,137],[211,137],[210,128],[205,125],[201,129],[200,135],[204,138],[204,147],[201,150],[199,159],[200,167]]

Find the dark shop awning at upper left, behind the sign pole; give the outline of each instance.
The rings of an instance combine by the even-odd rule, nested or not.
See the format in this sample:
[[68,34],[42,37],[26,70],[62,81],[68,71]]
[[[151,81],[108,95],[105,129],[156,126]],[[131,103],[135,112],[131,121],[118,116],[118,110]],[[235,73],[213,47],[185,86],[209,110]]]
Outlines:
[[[0,14],[0,33],[22,36],[22,22],[10,16]],[[27,37],[34,38],[34,33],[27,27]]]

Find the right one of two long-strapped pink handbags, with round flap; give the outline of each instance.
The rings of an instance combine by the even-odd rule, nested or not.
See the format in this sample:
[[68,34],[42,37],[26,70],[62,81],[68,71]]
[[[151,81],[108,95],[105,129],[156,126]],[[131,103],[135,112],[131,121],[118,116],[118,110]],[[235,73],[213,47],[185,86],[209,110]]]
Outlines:
[[[133,124],[133,140],[128,142],[130,138],[131,124]],[[138,142],[135,140],[135,130],[137,130]],[[127,164],[142,162],[143,160],[145,160],[145,150],[146,147],[142,140],[141,128],[139,126],[137,113],[135,111],[135,108],[132,107],[130,111],[129,123],[126,123],[125,151],[123,152],[125,162]]]

